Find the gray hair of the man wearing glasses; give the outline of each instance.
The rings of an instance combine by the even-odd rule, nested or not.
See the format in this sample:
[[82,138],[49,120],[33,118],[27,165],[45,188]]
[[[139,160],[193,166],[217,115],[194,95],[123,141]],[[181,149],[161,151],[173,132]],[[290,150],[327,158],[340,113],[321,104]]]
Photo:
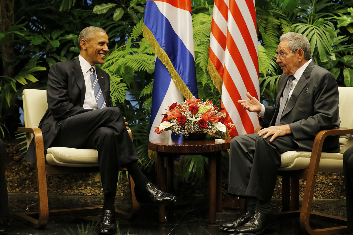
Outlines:
[[291,51],[302,49],[304,51],[305,60],[311,59],[311,46],[308,39],[300,33],[288,32],[280,37],[280,42],[288,40],[288,46]]

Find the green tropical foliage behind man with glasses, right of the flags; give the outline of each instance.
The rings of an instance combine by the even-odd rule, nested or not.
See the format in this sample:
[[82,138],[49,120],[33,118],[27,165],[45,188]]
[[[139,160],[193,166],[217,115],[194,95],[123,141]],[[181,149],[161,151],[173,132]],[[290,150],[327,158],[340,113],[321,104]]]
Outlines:
[[[289,31],[305,35],[313,59],[330,70],[339,85],[353,86],[353,1],[257,0],[260,86],[263,100],[273,104],[280,69],[275,63],[278,38]],[[266,58],[267,56],[267,58]]]

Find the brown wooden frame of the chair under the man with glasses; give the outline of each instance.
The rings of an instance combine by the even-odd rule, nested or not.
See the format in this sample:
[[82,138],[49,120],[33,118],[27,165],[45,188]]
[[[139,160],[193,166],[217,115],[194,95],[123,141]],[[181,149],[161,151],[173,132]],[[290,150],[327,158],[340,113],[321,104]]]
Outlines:
[[[331,216],[327,214],[322,214],[318,212],[311,211],[312,199],[314,195],[317,173],[319,168],[319,162],[322,152],[322,146],[325,138],[330,135],[352,135],[353,129],[335,129],[335,130],[323,130],[320,131],[314,140],[309,168],[297,171],[279,171],[278,174],[282,175],[282,211],[279,215],[281,218],[283,216],[298,216],[300,227],[303,231],[310,235],[330,235],[338,233],[346,233],[351,230],[347,228],[347,225],[340,227],[331,227],[323,229],[312,229],[309,224],[309,218],[319,218],[325,221],[347,224],[347,219],[337,216]],[[290,179],[291,178],[291,183]],[[304,190],[303,203],[301,209],[299,210],[299,179],[305,179],[306,185]],[[291,184],[291,186],[289,186]],[[291,196],[289,198],[289,190],[292,190]],[[289,210],[289,204],[291,211]]]

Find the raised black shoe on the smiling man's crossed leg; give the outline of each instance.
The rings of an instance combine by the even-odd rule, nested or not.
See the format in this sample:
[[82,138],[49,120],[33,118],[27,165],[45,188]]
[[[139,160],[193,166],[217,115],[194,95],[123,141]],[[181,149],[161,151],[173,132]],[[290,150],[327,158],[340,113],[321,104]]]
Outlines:
[[142,192],[136,192],[135,196],[139,203],[155,205],[168,204],[177,199],[173,194],[163,192],[152,183],[148,183]]

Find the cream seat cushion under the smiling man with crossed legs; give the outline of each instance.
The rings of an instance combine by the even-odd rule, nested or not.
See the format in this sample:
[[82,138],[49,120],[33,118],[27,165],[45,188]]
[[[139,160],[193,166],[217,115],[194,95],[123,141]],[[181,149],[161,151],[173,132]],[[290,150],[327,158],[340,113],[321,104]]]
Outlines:
[[66,147],[48,148],[46,160],[58,166],[98,166],[98,151]]

